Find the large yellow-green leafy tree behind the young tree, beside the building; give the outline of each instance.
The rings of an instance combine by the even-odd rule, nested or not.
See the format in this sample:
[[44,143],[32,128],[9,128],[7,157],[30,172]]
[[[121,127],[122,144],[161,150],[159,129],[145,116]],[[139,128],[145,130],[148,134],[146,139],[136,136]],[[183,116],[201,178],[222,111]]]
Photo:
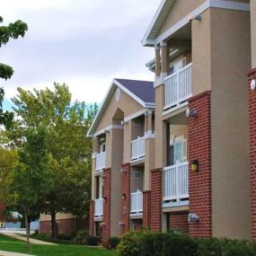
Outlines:
[[[51,216],[52,238],[57,235],[57,212],[77,216],[88,213],[92,140],[86,134],[97,111],[96,105],[87,107],[84,102],[72,102],[66,84],[55,83],[54,88],[33,92],[18,88],[13,103],[21,120],[12,137],[21,141],[26,128],[48,129],[47,150],[54,185],[46,199],[45,213]],[[81,161],[84,155],[87,162]]]

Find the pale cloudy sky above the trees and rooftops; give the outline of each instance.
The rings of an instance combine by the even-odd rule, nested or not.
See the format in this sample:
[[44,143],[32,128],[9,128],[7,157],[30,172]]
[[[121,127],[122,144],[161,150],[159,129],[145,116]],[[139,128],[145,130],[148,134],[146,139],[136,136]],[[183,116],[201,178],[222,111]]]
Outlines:
[[25,37],[0,49],[13,66],[4,86],[5,109],[16,88],[66,83],[73,100],[101,103],[116,78],[152,80],[146,63],[154,49],[141,40],[161,0],[0,0],[4,24],[22,20]]

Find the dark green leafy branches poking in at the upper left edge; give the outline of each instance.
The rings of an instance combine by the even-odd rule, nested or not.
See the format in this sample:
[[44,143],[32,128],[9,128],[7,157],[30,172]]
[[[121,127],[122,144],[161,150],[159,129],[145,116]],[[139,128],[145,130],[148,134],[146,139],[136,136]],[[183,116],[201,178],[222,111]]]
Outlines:
[[[0,16],[0,22],[3,18]],[[0,47],[5,45],[10,39],[18,39],[24,36],[28,30],[28,25],[22,21],[10,23],[8,26],[0,26]],[[10,79],[13,75],[13,67],[0,63],[0,78]],[[3,110],[4,88],[0,87],[0,125],[10,128],[13,120],[13,112]]]

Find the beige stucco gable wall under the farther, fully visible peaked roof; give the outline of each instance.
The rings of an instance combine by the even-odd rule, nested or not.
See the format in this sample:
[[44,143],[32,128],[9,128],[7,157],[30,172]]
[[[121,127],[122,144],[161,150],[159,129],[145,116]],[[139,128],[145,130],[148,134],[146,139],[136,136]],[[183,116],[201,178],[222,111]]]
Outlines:
[[121,91],[120,100],[119,102],[117,102],[114,93],[107,108],[104,110],[102,119],[98,127],[96,128],[95,132],[112,125],[113,116],[115,115],[118,108],[124,111],[124,117],[126,118],[131,114],[134,114],[137,111],[141,110],[142,106],[123,91]]

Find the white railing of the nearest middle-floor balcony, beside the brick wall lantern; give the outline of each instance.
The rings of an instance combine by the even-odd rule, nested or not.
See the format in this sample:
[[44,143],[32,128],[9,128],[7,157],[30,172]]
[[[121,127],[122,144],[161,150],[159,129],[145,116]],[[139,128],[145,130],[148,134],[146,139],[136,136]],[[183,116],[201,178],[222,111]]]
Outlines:
[[189,163],[163,168],[163,200],[189,199]]

